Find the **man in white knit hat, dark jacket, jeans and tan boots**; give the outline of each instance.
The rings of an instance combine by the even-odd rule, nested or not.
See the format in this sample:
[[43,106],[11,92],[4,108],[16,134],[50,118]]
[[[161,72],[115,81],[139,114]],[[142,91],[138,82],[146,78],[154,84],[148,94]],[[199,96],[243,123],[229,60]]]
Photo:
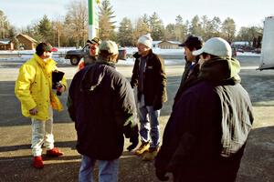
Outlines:
[[138,39],[138,52],[132,71],[132,87],[137,86],[138,115],[142,144],[135,151],[143,160],[153,160],[160,144],[159,116],[166,96],[166,75],[163,59],[153,54],[150,34]]

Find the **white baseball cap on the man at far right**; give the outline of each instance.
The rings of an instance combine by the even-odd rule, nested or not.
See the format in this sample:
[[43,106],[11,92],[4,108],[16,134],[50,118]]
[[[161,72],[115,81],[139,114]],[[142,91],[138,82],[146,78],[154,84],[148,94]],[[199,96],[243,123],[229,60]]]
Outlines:
[[214,56],[228,56],[231,57],[232,50],[231,46],[227,41],[220,37],[213,37],[208,39],[205,44],[199,50],[192,52],[194,56],[207,53]]

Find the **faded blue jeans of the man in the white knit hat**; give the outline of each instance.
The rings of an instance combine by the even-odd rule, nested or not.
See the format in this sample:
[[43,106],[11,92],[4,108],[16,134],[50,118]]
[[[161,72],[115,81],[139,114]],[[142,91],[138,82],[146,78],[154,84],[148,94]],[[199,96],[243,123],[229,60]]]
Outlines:
[[142,142],[152,139],[151,148],[158,147],[160,143],[160,110],[154,110],[153,106],[138,106],[138,116],[140,119],[140,135]]

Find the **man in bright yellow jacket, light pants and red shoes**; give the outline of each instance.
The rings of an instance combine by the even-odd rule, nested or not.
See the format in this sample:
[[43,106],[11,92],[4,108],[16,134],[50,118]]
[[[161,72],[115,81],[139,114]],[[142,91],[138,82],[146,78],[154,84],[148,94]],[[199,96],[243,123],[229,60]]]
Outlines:
[[[46,43],[37,45],[36,54],[20,67],[16,80],[15,93],[21,102],[23,116],[32,122],[33,166],[44,167],[42,145],[47,148],[47,156],[59,157],[63,153],[54,147],[52,108],[62,110],[58,96],[52,90],[52,72],[58,70],[57,63],[51,58],[56,48]],[[57,88],[62,93],[67,82],[62,78]]]

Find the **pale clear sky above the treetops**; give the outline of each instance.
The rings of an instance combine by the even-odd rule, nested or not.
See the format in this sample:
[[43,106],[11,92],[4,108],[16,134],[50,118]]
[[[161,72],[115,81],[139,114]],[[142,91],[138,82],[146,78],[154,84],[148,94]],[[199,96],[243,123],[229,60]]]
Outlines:
[[[0,0],[0,9],[16,27],[26,27],[43,15],[50,19],[64,16],[71,0]],[[87,0],[88,2],[88,0]],[[141,15],[157,15],[164,25],[174,23],[176,15],[191,20],[195,15],[215,15],[224,21],[228,16],[240,26],[262,25],[266,16],[274,15],[274,0],[111,0],[117,22],[123,17],[132,21]],[[255,13],[254,13],[255,12]]]

